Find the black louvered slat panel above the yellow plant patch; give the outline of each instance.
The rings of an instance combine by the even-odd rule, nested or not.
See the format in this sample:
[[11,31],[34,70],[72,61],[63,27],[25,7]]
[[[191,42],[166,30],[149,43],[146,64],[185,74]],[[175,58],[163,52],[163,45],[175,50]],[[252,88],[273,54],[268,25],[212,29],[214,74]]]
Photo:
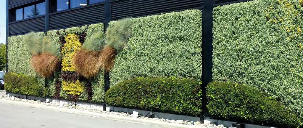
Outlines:
[[104,22],[104,4],[92,5],[85,8],[57,12],[49,16],[49,28],[65,29],[73,26],[88,25]]

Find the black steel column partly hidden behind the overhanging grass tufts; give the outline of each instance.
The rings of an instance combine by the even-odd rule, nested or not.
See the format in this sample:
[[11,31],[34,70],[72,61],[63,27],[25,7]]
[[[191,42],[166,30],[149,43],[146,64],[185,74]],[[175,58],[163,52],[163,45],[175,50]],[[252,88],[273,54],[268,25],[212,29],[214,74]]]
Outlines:
[[[111,9],[111,2],[110,0],[104,1],[104,12],[105,12],[105,23],[104,23],[104,32],[108,27],[108,23],[112,20],[112,9]],[[109,89],[110,79],[109,79],[109,72],[104,72],[104,92]]]

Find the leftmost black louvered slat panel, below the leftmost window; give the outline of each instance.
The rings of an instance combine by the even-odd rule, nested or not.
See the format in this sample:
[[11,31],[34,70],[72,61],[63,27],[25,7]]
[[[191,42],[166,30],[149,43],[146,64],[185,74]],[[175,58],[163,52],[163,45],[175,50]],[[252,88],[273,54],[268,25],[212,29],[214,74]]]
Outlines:
[[9,23],[9,36],[22,35],[31,31],[42,32],[45,30],[44,16],[19,22]]

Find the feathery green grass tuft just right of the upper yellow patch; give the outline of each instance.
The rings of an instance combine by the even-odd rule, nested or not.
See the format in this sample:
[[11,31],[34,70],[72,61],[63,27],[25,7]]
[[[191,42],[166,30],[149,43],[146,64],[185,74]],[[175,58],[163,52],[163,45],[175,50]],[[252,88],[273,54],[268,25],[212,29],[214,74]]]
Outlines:
[[89,51],[101,51],[105,45],[104,33],[96,33],[84,43],[82,48]]

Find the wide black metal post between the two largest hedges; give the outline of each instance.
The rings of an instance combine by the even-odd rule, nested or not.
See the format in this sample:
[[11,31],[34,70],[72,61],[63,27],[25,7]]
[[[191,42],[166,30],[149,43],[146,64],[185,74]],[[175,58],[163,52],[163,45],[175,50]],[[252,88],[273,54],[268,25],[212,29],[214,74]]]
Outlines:
[[206,86],[208,83],[212,81],[212,11],[215,1],[214,0],[205,0],[204,1],[204,8],[203,8],[203,115],[204,117],[209,117],[210,114],[208,113],[207,109],[207,97],[206,97]]

